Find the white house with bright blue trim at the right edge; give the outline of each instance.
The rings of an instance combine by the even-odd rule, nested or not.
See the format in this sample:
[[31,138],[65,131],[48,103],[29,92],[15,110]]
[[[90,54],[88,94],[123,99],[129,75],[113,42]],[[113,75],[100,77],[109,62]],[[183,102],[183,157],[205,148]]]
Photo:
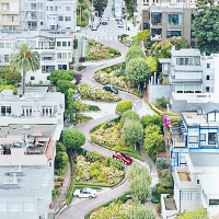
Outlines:
[[186,165],[187,153],[219,153],[219,104],[186,103],[180,107],[181,124],[170,129],[170,165]]

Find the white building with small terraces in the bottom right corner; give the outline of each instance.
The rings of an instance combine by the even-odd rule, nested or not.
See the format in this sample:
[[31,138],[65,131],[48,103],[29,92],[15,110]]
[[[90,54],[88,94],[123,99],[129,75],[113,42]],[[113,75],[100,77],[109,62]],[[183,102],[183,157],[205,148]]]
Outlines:
[[162,216],[176,218],[177,212],[207,209],[209,217],[219,212],[219,154],[188,153],[187,166],[175,166],[173,171],[174,198],[162,195]]

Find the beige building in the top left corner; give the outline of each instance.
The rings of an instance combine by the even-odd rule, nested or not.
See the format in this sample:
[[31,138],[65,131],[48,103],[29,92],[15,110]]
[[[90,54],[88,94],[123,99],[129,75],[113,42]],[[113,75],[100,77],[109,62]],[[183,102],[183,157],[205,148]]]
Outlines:
[[20,1],[0,0],[0,30],[20,28]]

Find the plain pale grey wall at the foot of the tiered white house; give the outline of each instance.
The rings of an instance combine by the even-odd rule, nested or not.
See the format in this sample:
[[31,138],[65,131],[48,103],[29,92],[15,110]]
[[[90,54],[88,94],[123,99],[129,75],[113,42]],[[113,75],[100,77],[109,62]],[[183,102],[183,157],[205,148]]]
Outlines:
[[170,100],[171,93],[173,92],[173,85],[171,84],[148,84],[148,100],[155,103],[157,99]]

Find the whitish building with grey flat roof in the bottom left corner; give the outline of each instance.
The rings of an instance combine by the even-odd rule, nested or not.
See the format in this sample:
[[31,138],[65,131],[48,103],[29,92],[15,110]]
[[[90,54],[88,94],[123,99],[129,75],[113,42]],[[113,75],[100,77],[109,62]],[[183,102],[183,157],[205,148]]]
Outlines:
[[49,168],[0,168],[0,218],[47,219],[53,189]]

